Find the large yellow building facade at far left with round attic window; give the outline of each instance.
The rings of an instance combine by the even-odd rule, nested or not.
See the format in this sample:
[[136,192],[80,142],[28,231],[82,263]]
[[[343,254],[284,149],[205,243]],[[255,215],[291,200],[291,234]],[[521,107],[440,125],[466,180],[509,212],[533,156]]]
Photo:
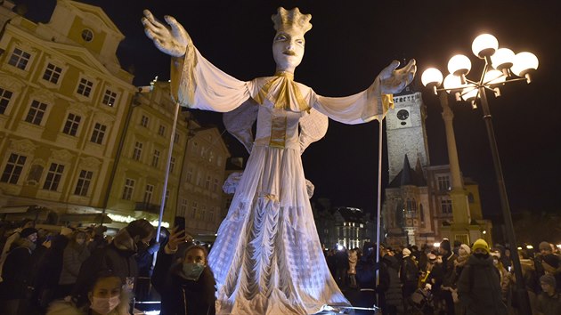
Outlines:
[[[6,13],[0,38],[0,206],[100,211],[135,88],[102,9],[58,1],[51,20]],[[8,210],[9,211],[9,210]]]

